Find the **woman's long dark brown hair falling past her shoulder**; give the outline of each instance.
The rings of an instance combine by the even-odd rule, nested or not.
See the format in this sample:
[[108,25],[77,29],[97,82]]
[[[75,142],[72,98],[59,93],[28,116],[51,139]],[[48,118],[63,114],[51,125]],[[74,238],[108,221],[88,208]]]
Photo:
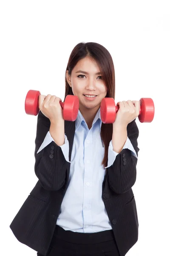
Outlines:
[[[77,44],[71,52],[66,71],[68,70],[68,74],[71,75],[71,72],[73,68],[76,66],[77,62],[87,56],[92,57],[99,66],[99,70],[102,73],[102,79],[106,87],[108,88],[108,93],[106,97],[111,97],[115,99],[115,72],[113,60],[111,54],[101,44],[93,42],[82,42]],[[72,88],[69,86],[65,75],[65,97],[68,94],[74,95]],[[109,142],[112,139],[112,132],[112,124],[102,123],[100,136],[105,145],[105,154],[102,160],[103,167],[106,167],[108,165],[108,146]]]

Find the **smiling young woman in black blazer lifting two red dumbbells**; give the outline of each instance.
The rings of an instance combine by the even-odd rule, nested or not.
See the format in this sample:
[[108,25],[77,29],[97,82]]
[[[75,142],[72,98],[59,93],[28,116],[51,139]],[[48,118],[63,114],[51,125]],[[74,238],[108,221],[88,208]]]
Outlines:
[[114,65],[97,43],[74,47],[65,97],[79,98],[74,122],[57,96],[41,95],[35,140],[38,182],[10,227],[39,256],[125,256],[138,240],[136,181],[139,101],[119,102],[113,124],[100,103],[115,98]]

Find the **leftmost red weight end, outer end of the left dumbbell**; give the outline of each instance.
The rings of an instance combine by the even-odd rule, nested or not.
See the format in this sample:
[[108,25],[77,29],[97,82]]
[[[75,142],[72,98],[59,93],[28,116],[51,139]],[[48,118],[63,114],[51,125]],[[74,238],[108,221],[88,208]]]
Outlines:
[[40,91],[37,90],[28,91],[25,100],[25,111],[28,115],[37,116],[38,112],[40,111],[38,104],[40,94]]

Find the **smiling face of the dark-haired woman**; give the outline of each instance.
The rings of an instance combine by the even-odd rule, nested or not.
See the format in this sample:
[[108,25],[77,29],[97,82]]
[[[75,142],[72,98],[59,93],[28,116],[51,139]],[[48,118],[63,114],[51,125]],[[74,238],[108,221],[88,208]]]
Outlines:
[[[66,71],[68,84],[73,94],[79,98],[79,108],[99,108],[100,102],[107,94],[107,87],[94,59],[85,57],[78,61],[71,76]],[[93,97],[92,97],[93,96]]]

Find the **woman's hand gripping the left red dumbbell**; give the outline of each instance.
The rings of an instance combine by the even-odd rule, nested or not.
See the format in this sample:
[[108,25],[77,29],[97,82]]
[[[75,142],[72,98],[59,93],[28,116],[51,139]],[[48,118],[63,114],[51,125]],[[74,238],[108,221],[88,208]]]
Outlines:
[[51,122],[64,121],[62,107],[59,102],[62,101],[55,95],[48,94],[39,96],[40,111],[50,119]]

